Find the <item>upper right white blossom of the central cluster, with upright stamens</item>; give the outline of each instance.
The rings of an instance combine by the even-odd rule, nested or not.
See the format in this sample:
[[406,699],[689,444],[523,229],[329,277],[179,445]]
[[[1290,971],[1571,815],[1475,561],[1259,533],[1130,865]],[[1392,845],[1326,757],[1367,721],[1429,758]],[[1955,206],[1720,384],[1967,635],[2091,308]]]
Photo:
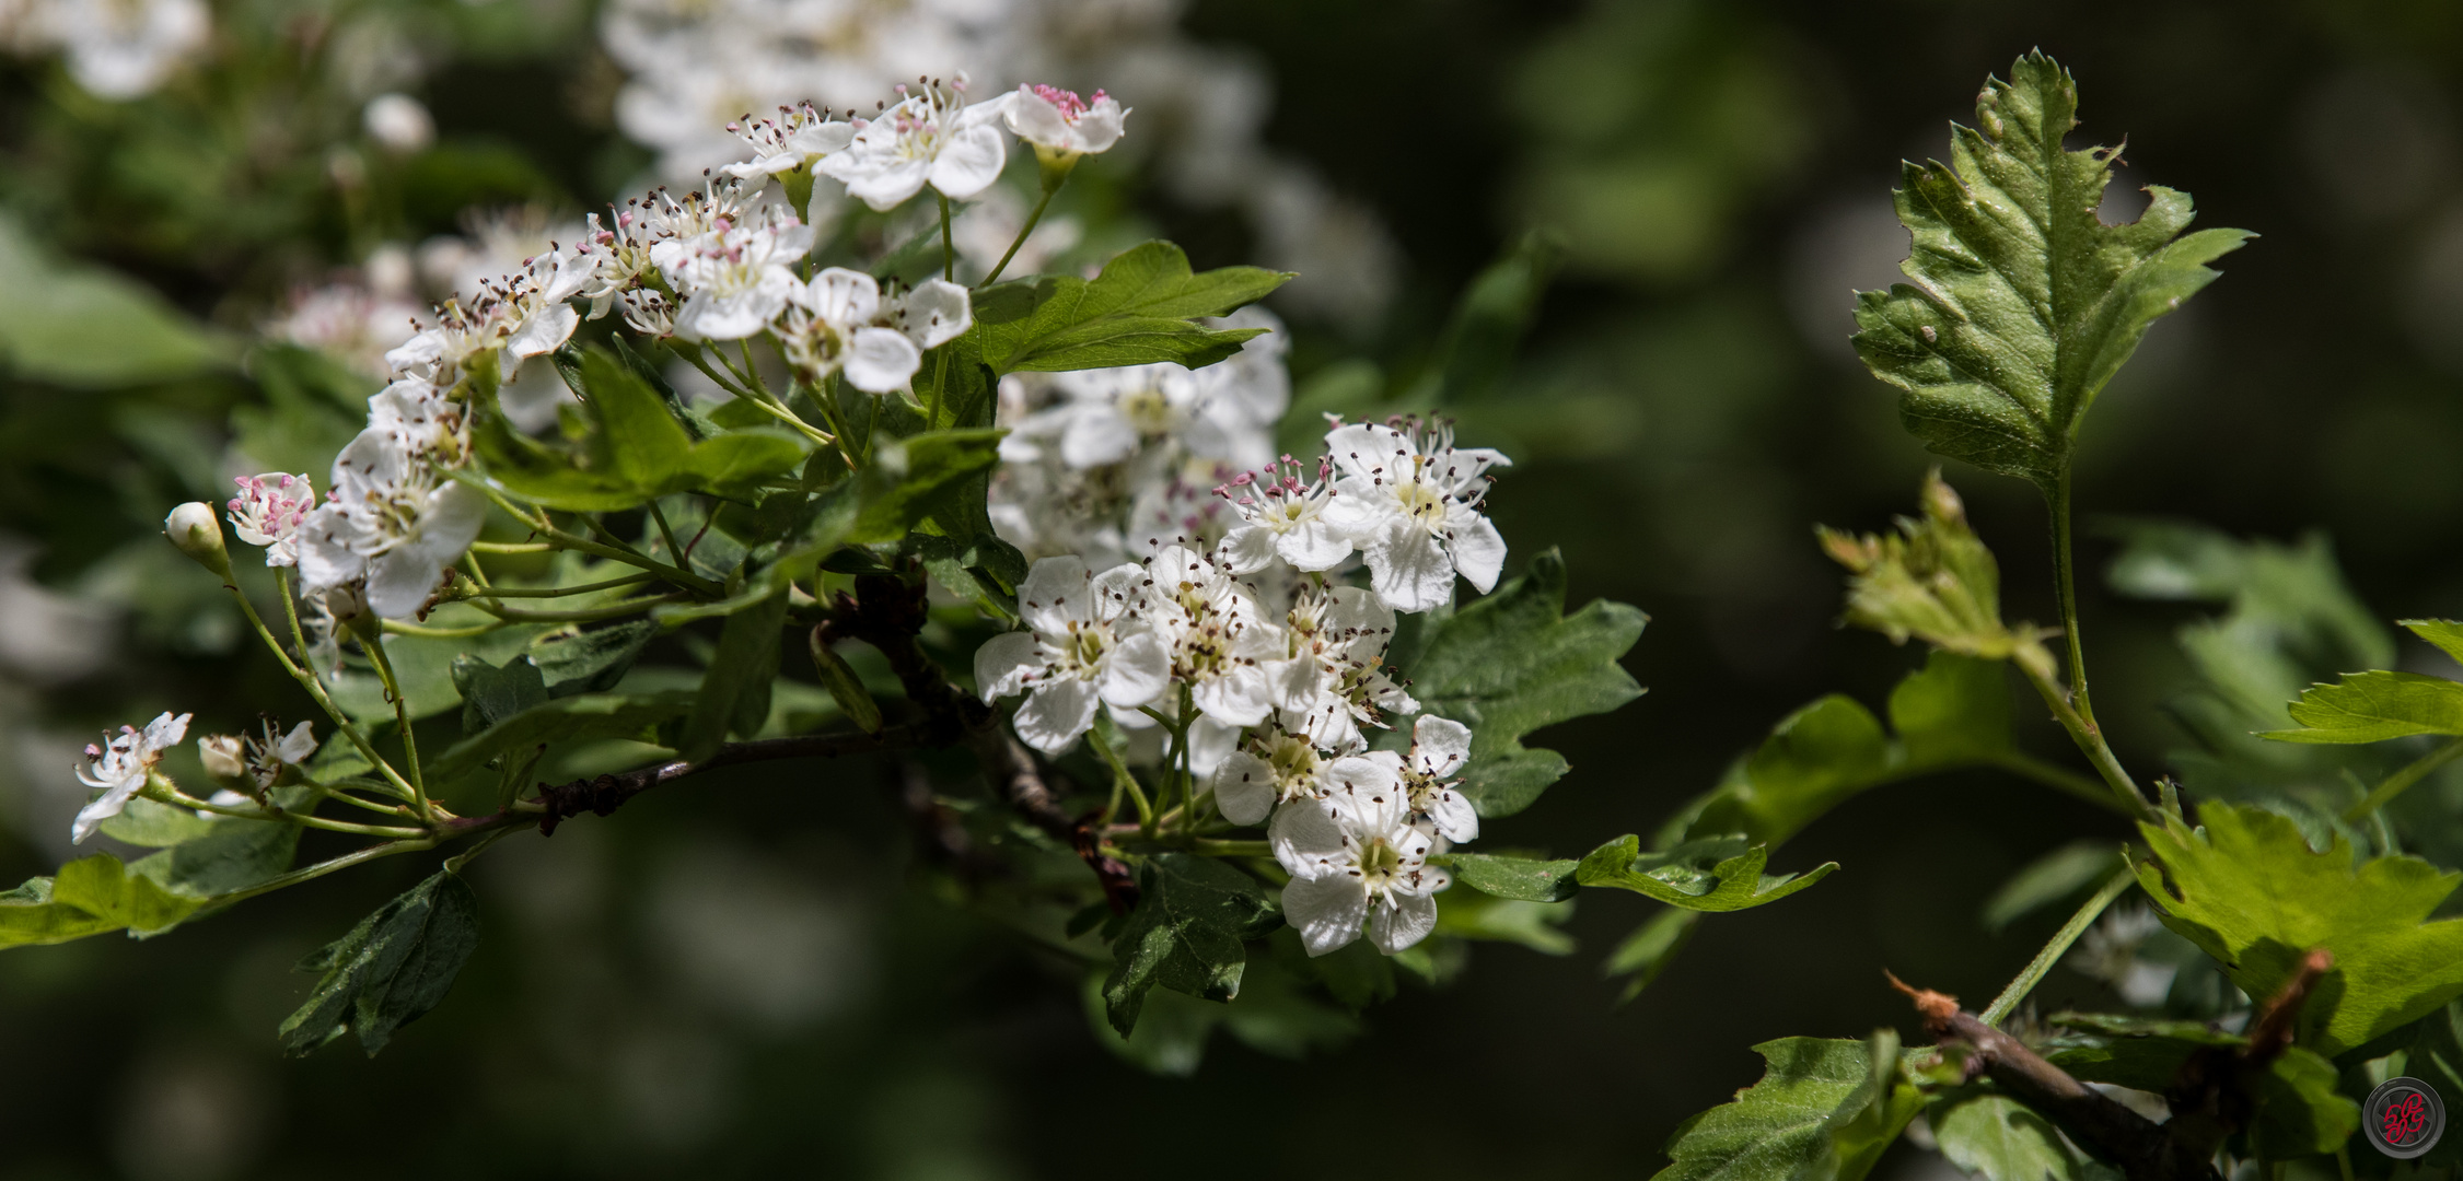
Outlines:
[[1505,539],[1480,514],[1480,497],[1488,467],[1512,460],[1488,448],[1456,448],[1448,423],[1397,423],[1401,431],[1352,423],[1325,433],[1325,450],[1342,472],[1325,519],[1360,546],[1377,598],[1394,610],[1443,605],[1456,573],[1485,595],[1505,568]]

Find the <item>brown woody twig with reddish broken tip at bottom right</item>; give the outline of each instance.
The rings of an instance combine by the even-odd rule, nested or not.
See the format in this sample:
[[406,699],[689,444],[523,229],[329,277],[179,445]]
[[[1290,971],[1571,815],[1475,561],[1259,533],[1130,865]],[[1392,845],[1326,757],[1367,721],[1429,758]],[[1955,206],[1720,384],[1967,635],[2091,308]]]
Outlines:
[[2069,1132],[2089,1151],[2118,1164],[2128,1181],[2212,1181],[2217,1176],[2209,1164],[2212,1151],[2199,1154],[2190,1144],[2175,1142],[2167,1132],[2170,1124],[2158,1124],[2069,1078],[2069,1070],[2047,1063],[2027,1043],[1958,1009],[1958,996],[1911,989],[1899,977],[1889,977],[1889,984],[1916,1001],[1933,1043],[1968,1048],[1968,1078],[1990,1078],[2010,1097],[2062,1124],[2062,1132]]

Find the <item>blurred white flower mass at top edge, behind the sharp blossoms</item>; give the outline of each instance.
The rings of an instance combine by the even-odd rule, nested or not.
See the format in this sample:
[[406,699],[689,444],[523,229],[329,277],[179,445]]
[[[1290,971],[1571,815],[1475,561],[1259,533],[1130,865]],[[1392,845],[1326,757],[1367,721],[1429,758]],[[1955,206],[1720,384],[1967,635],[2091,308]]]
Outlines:
[[[983,93],[1037,79],[1113,79],[1158,130],[1140,157],[1172,197],[1236,209],[1259,236],[1261,263],[1310,278],[1278,298],[1283,308],[1372,325],[1399,271],[1382,221],[1266,145],[1271,79],[1244,54],[1195,42],[1180,15],[1177,0],[611,0],[599,30],[628,74],[616,125],[658,153],[658,175],[670,182],[736,160],[717,128],[744,111],[805,98],[869,106],[892,81],[948,66],[968,69]],[[1034,143],[1059,140],[1057,150],[1101,150],[1101,93],[1079,106],[1086,111],[1052,103],[1074,116],[1069,135],[1042,138],[1042,111],[1022,111],[1012,128]],[[985,189],[958,221],[961,244],[980,229],[998,258],[1017,229],[1010,197],[1007,187]],[[815,202],[810,217],[828,214]],[[1074,231],[1052,217],[1037,239]],[[1034,249],[1030,241],[1022,258]]]

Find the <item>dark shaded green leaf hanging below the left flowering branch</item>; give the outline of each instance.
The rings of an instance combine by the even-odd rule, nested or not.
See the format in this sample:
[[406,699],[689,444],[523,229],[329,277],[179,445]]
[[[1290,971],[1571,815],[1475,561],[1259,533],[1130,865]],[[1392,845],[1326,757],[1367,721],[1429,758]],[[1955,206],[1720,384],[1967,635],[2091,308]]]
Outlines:
[[300,962],[323,972],[281,1024],[283,1053],[315,1053],[345,1031],[377,1056],[394,1031],[436,1009],[478,947],[478,896],[458,873],[436,873]]

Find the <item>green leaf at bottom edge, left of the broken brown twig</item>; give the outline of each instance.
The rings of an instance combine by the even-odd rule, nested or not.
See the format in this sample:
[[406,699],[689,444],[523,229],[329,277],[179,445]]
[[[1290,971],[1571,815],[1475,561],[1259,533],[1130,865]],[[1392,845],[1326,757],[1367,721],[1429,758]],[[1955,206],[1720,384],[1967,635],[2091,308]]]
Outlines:
[[1924,1107],[1899,1038],[1778,1038],[1754,1046],[1761,1083],[1667,1139],[1653,1181],[1860,1181]]

